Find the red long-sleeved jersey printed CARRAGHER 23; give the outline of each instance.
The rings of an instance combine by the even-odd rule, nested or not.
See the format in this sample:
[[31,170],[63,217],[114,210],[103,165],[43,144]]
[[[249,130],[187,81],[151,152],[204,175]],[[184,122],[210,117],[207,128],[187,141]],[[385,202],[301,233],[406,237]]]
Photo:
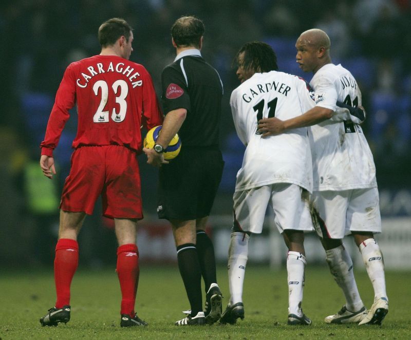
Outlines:
[[71,63],[64,72],[40,145],[42,155],[52,157],[74,104],[78,127],[73,148],[124,145],[139,151],[141,126],[150,129],[163,121],[144,66],[116,55],[95,55]]

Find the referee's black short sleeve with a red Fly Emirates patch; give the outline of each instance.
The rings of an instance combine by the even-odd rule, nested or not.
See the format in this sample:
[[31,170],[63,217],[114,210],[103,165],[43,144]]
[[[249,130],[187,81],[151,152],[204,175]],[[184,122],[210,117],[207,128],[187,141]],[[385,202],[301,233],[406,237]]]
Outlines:
[[185,108],[188,112],[191,109],[188,85],[182,71],[177,67],[179,68],[178,65],[172,64],[165,67],[161,73],[164,114],[178,108]]

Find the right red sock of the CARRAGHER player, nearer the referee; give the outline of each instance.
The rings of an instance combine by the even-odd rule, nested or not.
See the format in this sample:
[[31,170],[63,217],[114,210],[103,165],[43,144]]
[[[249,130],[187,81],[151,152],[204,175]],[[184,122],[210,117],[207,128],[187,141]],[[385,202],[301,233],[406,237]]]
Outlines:
[[121,288],[120,314],[135,315],[134,305],[140,270],[138,267],[138,248],[136,244],[120,245],[117,249],[117,275]]

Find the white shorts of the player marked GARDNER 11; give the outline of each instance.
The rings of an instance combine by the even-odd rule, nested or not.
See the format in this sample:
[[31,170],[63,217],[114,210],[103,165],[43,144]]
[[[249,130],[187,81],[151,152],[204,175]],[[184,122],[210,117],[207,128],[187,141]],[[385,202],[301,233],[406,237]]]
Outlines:
[[234,193],[234,230],[260,234],[267,205],[274,211],[280,233],[293,229],[312,231],[309,193],[290,183],[264,185]]

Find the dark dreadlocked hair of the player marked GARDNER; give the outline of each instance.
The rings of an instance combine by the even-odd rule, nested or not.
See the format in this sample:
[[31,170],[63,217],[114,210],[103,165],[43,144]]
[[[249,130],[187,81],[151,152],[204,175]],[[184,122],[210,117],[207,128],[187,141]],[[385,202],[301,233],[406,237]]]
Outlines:
[[238,56],[242,52],[244,52],[244,58],[241,66],[244,69],[251,69],[255,72],[278,71],[277,56],[270,45],[261,41],[245,43],[237,52],[233,61],[234,65],[238,65]]

